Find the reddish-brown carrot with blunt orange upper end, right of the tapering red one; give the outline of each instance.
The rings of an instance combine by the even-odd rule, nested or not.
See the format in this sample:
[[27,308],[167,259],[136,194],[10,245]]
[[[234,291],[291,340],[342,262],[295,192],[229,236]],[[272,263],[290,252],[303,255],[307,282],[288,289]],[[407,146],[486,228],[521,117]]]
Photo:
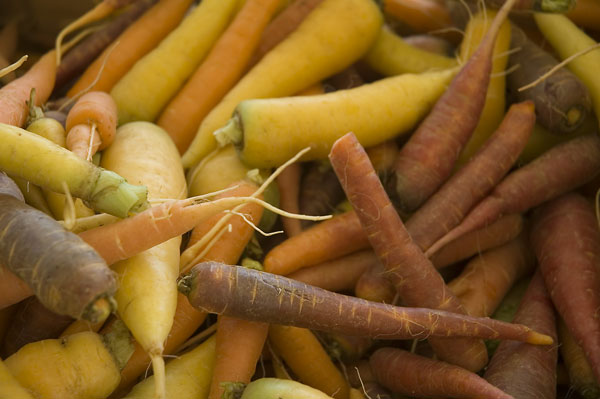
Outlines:
[[470,162],[406,221],[406,229],[422,250],[460,224],[469,210],[502,180],[527,144],[534,123],[533,102],[513,104]]

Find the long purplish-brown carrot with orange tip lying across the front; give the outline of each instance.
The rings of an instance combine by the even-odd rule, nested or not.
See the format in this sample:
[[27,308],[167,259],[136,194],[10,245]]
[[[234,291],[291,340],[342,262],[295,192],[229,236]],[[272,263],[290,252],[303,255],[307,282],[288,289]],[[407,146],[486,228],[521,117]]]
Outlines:
[[550,337],[490,318],[369,302],[242,266],[202,262],[179,280],[197,309],[246,320],[376,339],[478,337],[549,345]]

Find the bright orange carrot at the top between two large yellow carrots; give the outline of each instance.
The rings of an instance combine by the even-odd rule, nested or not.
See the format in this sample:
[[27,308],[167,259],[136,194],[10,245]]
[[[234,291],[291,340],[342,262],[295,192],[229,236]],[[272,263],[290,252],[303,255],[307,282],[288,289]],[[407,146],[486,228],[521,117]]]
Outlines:
[[187,150],[202,120],[245,72],[278,5],[278,0],[247,0],[206,59],[165,105],[157,123],[169,132],[180,153]]

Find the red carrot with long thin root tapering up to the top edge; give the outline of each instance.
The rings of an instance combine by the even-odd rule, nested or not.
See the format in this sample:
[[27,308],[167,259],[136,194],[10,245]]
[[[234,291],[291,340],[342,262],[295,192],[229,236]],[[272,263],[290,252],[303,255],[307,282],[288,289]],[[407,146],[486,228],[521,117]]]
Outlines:
[[490,81],[496,37],[514,2],[507,1],[498,11],[477,50],[400,149],[393,192],[402,210],[415,210],[446,180],[477,126]]

